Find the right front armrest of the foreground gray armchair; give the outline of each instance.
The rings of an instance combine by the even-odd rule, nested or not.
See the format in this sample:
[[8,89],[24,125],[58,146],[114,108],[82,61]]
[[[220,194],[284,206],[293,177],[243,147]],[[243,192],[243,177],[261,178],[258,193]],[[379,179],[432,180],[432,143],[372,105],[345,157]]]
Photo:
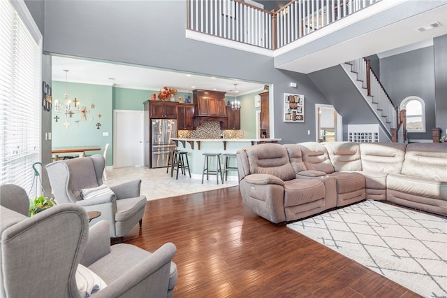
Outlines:
[[163,244],[91,297],[166,297],[171,260],[176,251],[173,243]]

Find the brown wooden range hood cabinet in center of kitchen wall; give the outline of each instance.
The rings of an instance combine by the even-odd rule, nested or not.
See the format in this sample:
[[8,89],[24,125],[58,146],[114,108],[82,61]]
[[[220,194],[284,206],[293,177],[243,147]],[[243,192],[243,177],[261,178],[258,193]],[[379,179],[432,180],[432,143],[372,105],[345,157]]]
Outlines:
[[196,116],[226,117],[225,92],[193,90],[193,99],[197,104]]

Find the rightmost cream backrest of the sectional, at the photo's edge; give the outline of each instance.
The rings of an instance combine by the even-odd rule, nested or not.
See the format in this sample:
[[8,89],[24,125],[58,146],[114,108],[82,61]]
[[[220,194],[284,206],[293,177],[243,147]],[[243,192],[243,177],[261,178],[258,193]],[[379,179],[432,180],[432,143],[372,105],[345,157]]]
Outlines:
[[447,145],[442,143],[408,144],[402,174],[447,181]]

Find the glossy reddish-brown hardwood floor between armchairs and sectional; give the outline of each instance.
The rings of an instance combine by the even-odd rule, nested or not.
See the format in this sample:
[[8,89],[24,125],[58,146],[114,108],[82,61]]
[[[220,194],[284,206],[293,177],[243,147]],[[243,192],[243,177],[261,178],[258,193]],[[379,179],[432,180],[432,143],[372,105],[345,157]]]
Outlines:
[[140,235],[177,246],[175,297],[420,297],[242,204],[239,187],[148,201]]

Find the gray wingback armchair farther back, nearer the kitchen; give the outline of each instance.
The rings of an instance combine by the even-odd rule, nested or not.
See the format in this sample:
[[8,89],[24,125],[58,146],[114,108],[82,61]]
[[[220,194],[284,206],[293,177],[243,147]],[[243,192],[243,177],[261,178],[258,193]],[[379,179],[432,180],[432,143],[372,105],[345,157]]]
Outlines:
[[107,220],[110,236],[122,239],[137,222],[141,227],[147,200],[145,196],[140,196],[141,180],[112,186],[110,193],[82,199],[82,190],[103,185],[104,167],[103,155],[96,154],[52,162],[47,164],[46,169],[57,204],[75,203],[86,211],[100,211],[101,216],[92,220],[90,225]]

